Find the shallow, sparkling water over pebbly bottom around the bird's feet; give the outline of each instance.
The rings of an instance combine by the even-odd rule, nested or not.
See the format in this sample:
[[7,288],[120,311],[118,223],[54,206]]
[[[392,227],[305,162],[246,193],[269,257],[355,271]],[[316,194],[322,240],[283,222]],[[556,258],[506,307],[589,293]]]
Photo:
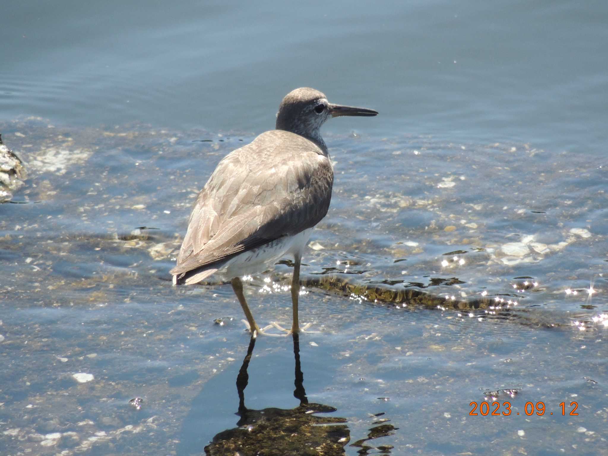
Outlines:
[[[192,165],[210,171],[251,137],[10,126],[23,135],[15,149],[40,149],[19,194],[27,204],[1,207],[10,387],[0,412],[10,454],[41,445],[201,454],[237,426],[248,339],[229,286],[174,288],[167,271],[204,179]],[[301,319],[320,332],[302,336],[300,355],[308,401],[345,419],[347,454],[387,423],[399,429],[364,444],[396,454],[576,444],[598,454],[608,417],[599,157],[564,166],[525,145],[326,140],[336,191],[302,268]],[[382,164],[375,176],[366,160]],[[289,321],[289,269],[247,285],[258,321]],[[291,345],[258,340],[248,409],[298,406]],[[78,384],[75,373],[94,380]],[[514,416],[468,415],[472,401],[504,389],[519,391],[499,395]],[[129,405],[136,397],[139,411]],[[579,415],[562,417],[564,401],[578,402]],[[554,416],[525,416],[527,402]],[[390,421],[374,425],[376,413]]]

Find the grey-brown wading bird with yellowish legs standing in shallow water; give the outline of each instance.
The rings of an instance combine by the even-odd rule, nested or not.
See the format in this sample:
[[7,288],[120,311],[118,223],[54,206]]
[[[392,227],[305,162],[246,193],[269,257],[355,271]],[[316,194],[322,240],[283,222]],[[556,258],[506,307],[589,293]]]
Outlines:
[[[373,109],[334,105],[310,88],[289,92],[278,107],[276,129],[230,152],[196,198],[188,230],[171,269],[175,285],[201,282],[212,274],[230,280],[252,337],[272,326],[287,334],[298,323],[300,263],[313,227],[330,206],[334,170],[320,128],[330,117],[376,116]],[[244,275],[266,271],[294,258],[293,323],[263,329],[243,294]]]

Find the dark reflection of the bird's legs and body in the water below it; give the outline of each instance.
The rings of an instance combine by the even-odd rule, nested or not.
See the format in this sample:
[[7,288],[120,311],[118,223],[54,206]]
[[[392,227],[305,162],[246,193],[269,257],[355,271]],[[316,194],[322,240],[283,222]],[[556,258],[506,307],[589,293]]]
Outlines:
[[302,368],[300,367],[300,342],[298,334],[294,338],[295,390],[294,396],[300,406],[294,409],[262,410],[247,409],[245,388],[249,381],[247,367],[255,347],[255,339],[249,342],[247,356],[237,376],[238,412],[237,426],[219,432],[205,447],[207,455],[342,455],[350,441],[350,431],[345,418],[337,416],[316,416],[313,413],[335,412],[336,409],[323,404],[311,404],[304,390]]

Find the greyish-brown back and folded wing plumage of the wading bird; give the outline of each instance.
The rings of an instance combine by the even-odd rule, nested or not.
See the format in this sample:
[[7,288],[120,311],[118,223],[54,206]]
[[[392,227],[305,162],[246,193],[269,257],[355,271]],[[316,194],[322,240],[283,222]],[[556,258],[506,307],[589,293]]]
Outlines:
[[200,274],[247,250],[315,226],[333,169],[313,142],[274,130],[228,154],[201,190],[171,274]]

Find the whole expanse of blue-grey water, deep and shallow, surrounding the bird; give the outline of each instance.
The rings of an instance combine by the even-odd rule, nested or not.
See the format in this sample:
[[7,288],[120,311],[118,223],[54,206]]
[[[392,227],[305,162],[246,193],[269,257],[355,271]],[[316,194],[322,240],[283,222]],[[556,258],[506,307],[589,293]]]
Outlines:
[[[1,453],[608,454],[606,5],[299,8],[9,5]],[[380,115],[324,130],[317,332],[250,344],[229,285],[168,270],[302,85]],[[287,260],[246,281],[260,323]]]

